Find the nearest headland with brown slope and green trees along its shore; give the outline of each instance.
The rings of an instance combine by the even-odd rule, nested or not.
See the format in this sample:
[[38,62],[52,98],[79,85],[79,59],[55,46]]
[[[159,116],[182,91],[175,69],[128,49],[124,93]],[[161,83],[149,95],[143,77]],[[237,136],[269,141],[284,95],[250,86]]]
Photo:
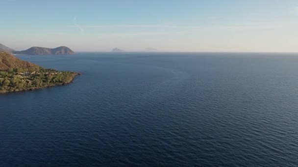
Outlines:
[[47,69],[0,51],[0,93],[70,84],[80,73]]

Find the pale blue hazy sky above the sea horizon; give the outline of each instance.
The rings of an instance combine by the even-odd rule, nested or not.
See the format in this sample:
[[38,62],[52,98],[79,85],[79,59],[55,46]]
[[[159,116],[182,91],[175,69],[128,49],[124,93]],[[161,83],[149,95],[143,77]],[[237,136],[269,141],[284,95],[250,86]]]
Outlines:
[[298,0],[0,0],[16,50],[298,52]]

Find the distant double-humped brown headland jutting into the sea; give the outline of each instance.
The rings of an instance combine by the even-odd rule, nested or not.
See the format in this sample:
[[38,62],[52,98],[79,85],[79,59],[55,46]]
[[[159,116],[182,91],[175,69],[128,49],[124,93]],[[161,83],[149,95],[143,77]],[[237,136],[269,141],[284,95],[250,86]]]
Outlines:
[[30,47],[27,50],[15,51],[15,54],[25,54],[25,55],[73,55],[75,54],[70,48],[66,46],[60,46],[56,48],[46,48],[46,47]]

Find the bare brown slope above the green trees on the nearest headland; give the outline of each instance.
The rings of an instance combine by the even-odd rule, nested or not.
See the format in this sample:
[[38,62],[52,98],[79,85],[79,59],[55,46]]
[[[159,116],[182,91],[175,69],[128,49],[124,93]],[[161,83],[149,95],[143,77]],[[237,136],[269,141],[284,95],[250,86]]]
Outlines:
[[22,61],[13,55],[0,51],[0,70],[8,70],[10,68],[23,68],[23,69],[39,69],[36,64]]

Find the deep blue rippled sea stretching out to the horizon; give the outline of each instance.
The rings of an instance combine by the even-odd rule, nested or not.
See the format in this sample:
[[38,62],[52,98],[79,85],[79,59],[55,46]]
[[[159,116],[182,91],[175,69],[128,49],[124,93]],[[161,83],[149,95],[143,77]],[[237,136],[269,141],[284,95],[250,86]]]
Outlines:
[[0,166],[298,166],[298,54],[18,56],[82,72],[0,95]]

